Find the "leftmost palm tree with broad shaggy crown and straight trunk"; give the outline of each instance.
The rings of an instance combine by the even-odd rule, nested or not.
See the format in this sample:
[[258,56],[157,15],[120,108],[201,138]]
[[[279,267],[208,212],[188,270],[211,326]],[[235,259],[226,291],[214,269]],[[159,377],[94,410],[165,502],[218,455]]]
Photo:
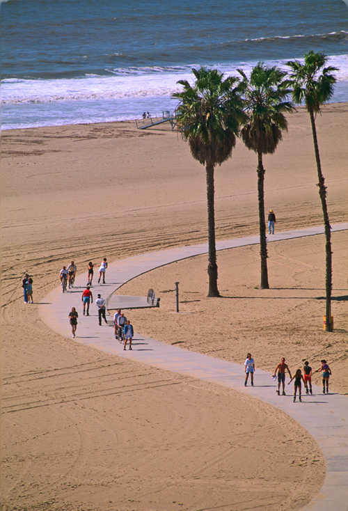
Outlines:
[[176,109],[177,127],[189,142],[193,158],[205,165],[208,210],[208,297],[219,297],[218,271],[215,246],[214,168],[232,153],[239,134],[239,117],[243,116],[239,97],[239,79],[228,77],[218,70],[199,68],[192,70],[196,81],[177,83],[184,86],[173,97],[180,100]]

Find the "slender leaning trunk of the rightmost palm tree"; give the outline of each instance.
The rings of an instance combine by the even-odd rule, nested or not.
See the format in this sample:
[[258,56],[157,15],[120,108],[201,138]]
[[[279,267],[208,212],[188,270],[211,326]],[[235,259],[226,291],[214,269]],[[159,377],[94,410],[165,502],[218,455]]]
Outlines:
[[310,115],[310,123],[312,125],[312,133],[313,133],[313,142],[314,142],[314,151],[315,151],[315,160],[317,162],[317,172],[318,172],[318,184],[319,187],[319,196],[322,201],[322,210],[324,216],[324,230],[325,230],[325,253],[326,253],[326,276],[325,276],[325,287],[326,287],[326,325],[325,330],[327,332],[332,332],[331,327],[331,291],[332,291],[332,251],[331,251],[331,226],[329,221],[329,214],[327,212],[326,205],[326,186],[324,176],[322,175],[322,166],[320,164],[319,157],[319,148],[317,141],[317,129],[315,128],[315,117],[313,110],[309,110]]

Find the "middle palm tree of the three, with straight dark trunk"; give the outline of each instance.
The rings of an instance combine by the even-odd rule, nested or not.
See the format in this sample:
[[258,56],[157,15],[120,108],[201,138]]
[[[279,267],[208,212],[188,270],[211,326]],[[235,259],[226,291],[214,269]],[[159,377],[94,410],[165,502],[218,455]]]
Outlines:
[[272,154],[278,142],[283,138],[282,131],[287,130],[285,112],[294,107],[287,101],[290,91],[284,86],[285,72],[269,68],[259,62],[249,78],[243,70],[244,100],[246,103],[246,122],[242,127],[242,140],[249,150],[258,154],[258,205],[260,223],[261,289],[269,289],[267,271],[267,238],[264,219],[264,173],[262,155]]

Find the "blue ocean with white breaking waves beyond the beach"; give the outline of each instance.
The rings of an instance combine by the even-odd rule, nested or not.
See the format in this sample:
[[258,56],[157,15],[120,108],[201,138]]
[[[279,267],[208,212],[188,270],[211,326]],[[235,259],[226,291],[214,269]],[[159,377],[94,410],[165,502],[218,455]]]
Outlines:
[[177,80],[283,67],[313,49],[348,101],[343,0],[1,1],[3,129],[108,122],[173,111]]

